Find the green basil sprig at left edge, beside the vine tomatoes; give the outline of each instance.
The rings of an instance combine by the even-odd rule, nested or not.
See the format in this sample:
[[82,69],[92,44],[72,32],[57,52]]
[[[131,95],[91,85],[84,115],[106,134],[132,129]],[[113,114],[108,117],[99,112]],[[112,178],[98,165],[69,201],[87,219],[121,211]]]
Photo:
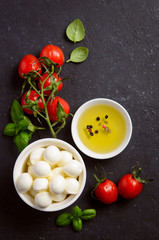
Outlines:
[[29,143],[33,133],[38,129],[44,129],[34,126],[30,119],[24,115],[24,111],[19,102],[14,99],[11,106],[12,123],[8,123],[3,134],[6,136],[14,136],[14,143],[21,152]]

